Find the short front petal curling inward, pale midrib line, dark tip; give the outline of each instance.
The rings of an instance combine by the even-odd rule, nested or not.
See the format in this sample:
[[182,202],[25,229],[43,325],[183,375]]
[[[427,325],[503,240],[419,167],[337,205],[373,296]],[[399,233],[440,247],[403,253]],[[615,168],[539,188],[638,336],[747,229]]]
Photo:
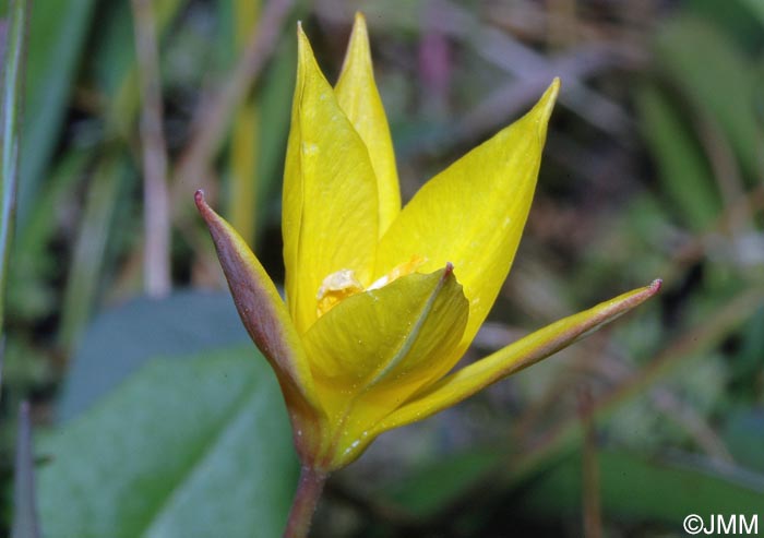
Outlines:
[[432,379],[440,358],[459,343],[467,312],[447,266],[349,297],[315,322],[303,344],[341,445],[361,439]]

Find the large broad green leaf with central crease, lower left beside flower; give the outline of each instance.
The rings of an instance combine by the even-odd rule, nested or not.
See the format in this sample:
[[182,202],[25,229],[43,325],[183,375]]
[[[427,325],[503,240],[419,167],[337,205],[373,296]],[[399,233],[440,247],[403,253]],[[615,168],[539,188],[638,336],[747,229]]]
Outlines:
[[297,478],[280,392],[252,346],[151,361],[37,454],[50,459],[49,538],[278,536]]

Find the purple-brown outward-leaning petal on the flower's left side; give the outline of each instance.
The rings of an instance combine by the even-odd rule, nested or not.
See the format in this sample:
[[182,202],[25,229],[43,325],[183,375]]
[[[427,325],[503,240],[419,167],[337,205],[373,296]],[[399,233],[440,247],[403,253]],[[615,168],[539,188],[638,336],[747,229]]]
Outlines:
[[196,191],[195,202],[247,332],[282,386],[320,409],[307,356],[276,286],[241,236],[207,205],[202,191]]

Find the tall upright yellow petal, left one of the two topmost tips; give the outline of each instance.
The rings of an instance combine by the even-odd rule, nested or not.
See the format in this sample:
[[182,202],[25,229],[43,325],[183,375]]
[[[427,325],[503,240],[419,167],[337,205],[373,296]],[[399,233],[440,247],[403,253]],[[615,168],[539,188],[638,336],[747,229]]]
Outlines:
[[317,318],[323,279],[339,270],[370,282],[378,241],[377,179],[363,142],[337,105],[298,29],[297,85],[284,171],[284,263],[300,334]]

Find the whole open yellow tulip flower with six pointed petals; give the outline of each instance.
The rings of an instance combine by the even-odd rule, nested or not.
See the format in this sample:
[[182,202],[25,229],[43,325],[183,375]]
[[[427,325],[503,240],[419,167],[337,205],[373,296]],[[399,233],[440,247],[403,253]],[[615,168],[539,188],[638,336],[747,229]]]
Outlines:
[[401,208],[366,23],[332,87],[298,28],[283,199],[286,301],[196,193],[236,306],[273,366],[305,467],[327,474],[380,433],[475,394],[653,296],[656,280],[451,371],[506,278],[559,81]]

